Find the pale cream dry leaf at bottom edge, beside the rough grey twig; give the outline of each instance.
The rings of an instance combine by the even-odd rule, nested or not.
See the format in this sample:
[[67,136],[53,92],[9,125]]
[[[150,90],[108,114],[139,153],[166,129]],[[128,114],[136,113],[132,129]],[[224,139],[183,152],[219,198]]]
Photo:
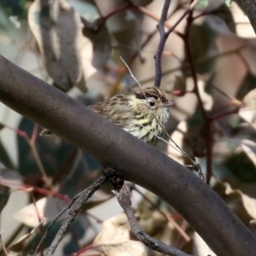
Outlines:
[[119,213],[103,222],[93,244],[106,256],[146,256],[147,248],[140,241],[131,241],[130,231],[125,213]]

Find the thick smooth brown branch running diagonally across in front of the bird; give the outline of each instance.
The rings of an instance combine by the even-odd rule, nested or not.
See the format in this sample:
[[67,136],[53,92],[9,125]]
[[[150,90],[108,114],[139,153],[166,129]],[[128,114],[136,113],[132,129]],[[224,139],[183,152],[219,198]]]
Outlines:
[[187,168],[0,55],[0,101],[159,195],[214,253],[255,255],[256,239],[218,195]]

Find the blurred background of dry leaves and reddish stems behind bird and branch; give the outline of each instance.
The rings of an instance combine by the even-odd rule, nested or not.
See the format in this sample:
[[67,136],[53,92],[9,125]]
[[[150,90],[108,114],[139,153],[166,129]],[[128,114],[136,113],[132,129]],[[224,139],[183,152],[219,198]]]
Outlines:
[[[189,4],[172,0],[166,31]],[[143,87],[154,85],[163,5],[1,0],[0,54],[88,106],[137,86],[120,56]],[[161,89],[177,105],[170,109],[169,137],[157,146],[203,177],[252,230],[255,57],[253,28],[238,0],[197,1],[162,54]],[[1,255],[7,255],[4,247],[8,255],[44,255],[67,213],[39,244],[49,223],[102,172],[95,159],[60,137],[39,137],[43,128],[0,102]],[[161,255],[134,241],[111,189],[102,186],[84,205],[55,255]],[[187,253],[214,255],[165,201],[137,186],[132,202],[148,235]]]

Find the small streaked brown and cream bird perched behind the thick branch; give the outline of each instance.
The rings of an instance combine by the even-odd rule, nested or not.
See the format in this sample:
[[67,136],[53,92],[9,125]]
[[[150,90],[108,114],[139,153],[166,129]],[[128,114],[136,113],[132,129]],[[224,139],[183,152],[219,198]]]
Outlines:
[[[159,137],[164,135],[163,127],[166,127],[169,118],[167,108],[173,105],[175,103],[168,101],[164,90],[147,87],[113,96],[89,108],[131,135],[155,146]],[[50,133],[49,130],[44,130],[40,135]]]

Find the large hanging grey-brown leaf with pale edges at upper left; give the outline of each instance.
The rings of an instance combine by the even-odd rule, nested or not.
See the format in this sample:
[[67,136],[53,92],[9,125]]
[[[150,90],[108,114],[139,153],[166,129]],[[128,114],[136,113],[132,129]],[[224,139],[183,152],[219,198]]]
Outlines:
[[28,22],[49,76],[65,90],[79,83],[83,39],[79,14],[66,0],[36,0]]

